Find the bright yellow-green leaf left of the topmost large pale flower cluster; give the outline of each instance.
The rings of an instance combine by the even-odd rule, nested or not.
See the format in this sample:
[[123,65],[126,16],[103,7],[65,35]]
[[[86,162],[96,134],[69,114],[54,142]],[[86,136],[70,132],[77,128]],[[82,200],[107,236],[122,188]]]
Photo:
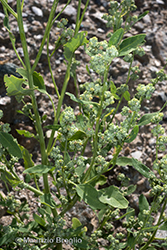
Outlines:
[[77,48],[81,45],[84,45],[85,43],[88,43],[88,40],[86,39],[87,32],[81,31],[80,33],[76,34],[68,43],[64,45],[64,57],[67,61],[70,61],[70,59],[73,56],[73,53]]

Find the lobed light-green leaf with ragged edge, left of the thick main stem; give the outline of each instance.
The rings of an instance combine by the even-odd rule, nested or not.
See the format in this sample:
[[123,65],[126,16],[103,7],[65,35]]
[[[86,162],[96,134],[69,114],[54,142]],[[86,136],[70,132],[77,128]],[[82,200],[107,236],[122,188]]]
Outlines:
[[32,91],[35,89],[25,89],[22,87],[25,84],[24,78],[17,78],[15,76],[8,77],[7,75],[4,76],[5,86],[7,87],[8,96],[25,96],[30,95]]

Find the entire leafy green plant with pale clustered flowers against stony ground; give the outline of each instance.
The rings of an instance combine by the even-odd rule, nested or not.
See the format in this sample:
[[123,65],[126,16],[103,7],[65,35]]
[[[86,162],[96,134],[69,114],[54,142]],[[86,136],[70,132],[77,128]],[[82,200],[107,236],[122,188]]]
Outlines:
[[[156,113],[140,115],[141,103],[144,99],[149,99],[155,90],[158,81],[167,79],[164,71],[157,74],[157,78],[148,85],[138,85],[136,95],[131,97],[128,91],[130,79],[137,79],[138,67],[132,67],[134,55],[144,54],[141,48],[144,43],[145,34],[139,34],[124,38],[124,34],[134,23],[144,17],[148,12],[139,17],[131,15],[136,6],[133,0],[123,0],[119,4],[117,1],[110,1],[109,14],[104,15],[107,27],[113,28],[113,33],[109,34],[109,39],[99,42],[96,37],[87,40],[87,32],[79,31],[89,0],[86,1],[85,8],[81,15],[81,0],[78,1],[78,12],[75,30],[66,29],[67,20],[62,19],[57,23],[62,32],[55,42],[54,51],[49,54],[49,33],[58,19],[59,15],[68,6],[54,17],[58,0],[53,1],[52,9],[46,26],[46,30],[39,48],[39,52],[34,64],[30,65],[27,42],[23,28],[22,11],[24,1],[17,0],[17,13],[8,5],[7,1],[1,0],[4,8],[4,26],[9,32],[11,43],[23,68],[17,72],[21,78],[5,75],[7,94],[15,96],[18,102],[23,102],[24,107],[20,111],[23,115],[29,116],[34,122],[36,134],[25,130],[18,130],[19,134],[26,137],[34,137],[39,142],[41,153],[41,164],[36,165],[31,154],[26,148],[19,145],[10,134],[7,124],[0,127],[0,172],[1,180],[10,184],[14,189],[31,190],[36,199],[40,202],[38,213],[33,214],[33,221],[25,223],[27,204],[15,200],[8,190],[6,198],[1,197],[0,204],[7,207],[8,213],[14,216],[11,225],[1,227],[0,246],[3,249],[62,249],[62,244],[73,245],[74,249],[99,249],[100,238],[105,242],[104,249],[156,249],[157,230],[166,230],[166,217],[164,215],[166,199],[166,165],[164,156],[158,159],[158,151],[165,149],[167,137],[164,129],[160,125],[163,114],[161,108]],[[24,62],[19,57],[15,48],[15,38],[10,30],[8,13],[11,13],[17,20],[20,39],[24,51]],[[124,28],[122,28],[124,27]],[[41,53],[47,41],[47,57],[51,77],[58,97],[58,105],[54,106],[51,96],[47,93],[43,77],[35,71]],[[81,85],[82,94],[76,95],[66,92],[70,75],[76,83],[76,67],[78,62],[75,59],[75,51],[84,45],[86,53],[90,56],[90,64],[86,66],[90,76],[90,81]],[[50,59],[59,48],[63,46],[64,58],[67,66],[64,83],[61,93],[53,77]],[[113,79],[109,78],[110,65],[115,57],[124,56],[124,60],[129,62],[129,71],[125,84],[116,87]],[[96,73],[92,78],[91,71]],[[43,132],[42,119],[38,112],[38,105],[35,92],[46,94],[51,100],[54,111],[53,125],[46,126],[51,129],[51,136],[46,145]],[[31,104],[24,102],[24,97],[31,98]],[[61,111],[65,95],[76,102],[79,106],[78,114],[74,113],[72,107],[65,107]],[[120,108],[122,100],[127,101],[127,106],[123,106],[121,115],[123,121],[116,123],[114,118]],[[116,104],[117,102],[117,104]],[[32,112],[33,110],[33,112]],[[1,117],[2,117],[1,112]],[[139,128],[143,125],[155,124],[152,133],[156,137],[156,160],[153,171],[140,161],[134,158],[120,157],[120,152],[124,143],[131,143],[137,136]],[[56,132],[56,138],[55,138]],[[87,146],[91,148],[91,156],[86,157]],[[112,154],[112,158],[107,160],[107,154]],[[10,155],[10,159],[9,156]],[[15,172],[15,163],[22,158],[24,161],[24,174],[26,177],[20,179]],[[8,160],[9,159],[9,160]],[[149,203],[146,197],[141,194],[139,197],[139,212],[135,215],[135,210],[130,207],[128,196],[132,194],[136,186],[130,185],[125,174],[120,173],[117,178],[120,186],[109,186],[98,189],[98,185],[107,182],[105,173],[112,170],[116,165],[131,166],[141,175],[146,177],[150,183],[150,194],[153,201]],[[60,201],[56,204],[54,196],[50,191],[48,176],[53,179],[53,184],[57,192],[55,195]],[[38,186],[39,176],[43,177],[44,189],[41,191]],[[30,180],[34,180],[35,186],[30,185]],[[8,186],[7,186],[8,187]],[[62,194],[65,190],[65,195]],[[64,220],[65,213],[75,206],[77,201],[83,200],[97,215],[98,228],[88,235],[87,228],[77,218],[72,218],[71,227],[66,226]],[[19,205],[18,205],[19,204]],[[161,210],[160,210],[161,208]],[[154,224],[153,215],[160,211],[158,222]],[[21,215],[20,213],[23,213]],[[115,233],[114,225],[121,223],[124,233]],[[28,244],[27,244],[28,243]],[[165,246],[166,242],[163,243]],[[161,244],[162,246],[162,244]]]

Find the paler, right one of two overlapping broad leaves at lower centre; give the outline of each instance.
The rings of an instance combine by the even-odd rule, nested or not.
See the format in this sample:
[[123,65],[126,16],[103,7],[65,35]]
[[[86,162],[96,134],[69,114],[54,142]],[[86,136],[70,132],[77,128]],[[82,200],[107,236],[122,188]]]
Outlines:
[[127,208],[129,203],[116,186],[101,189],[99,191],[99,200],[104,204],[120,209]]

